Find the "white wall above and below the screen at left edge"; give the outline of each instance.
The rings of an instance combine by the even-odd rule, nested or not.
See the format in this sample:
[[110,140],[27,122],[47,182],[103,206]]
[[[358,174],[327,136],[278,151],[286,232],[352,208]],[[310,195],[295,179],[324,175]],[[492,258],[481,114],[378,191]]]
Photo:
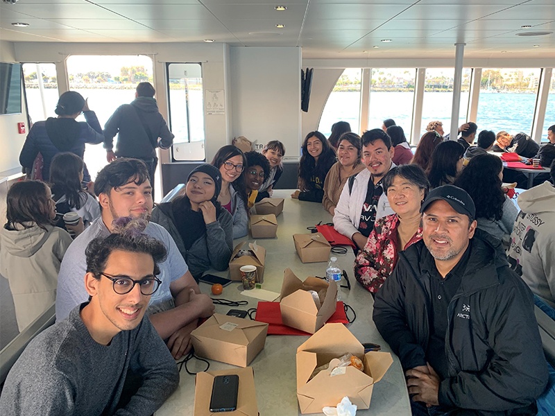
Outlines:
[[[0,41],[0,61],[17,62],[13,42]],[[25,141],[26,135],[20,135],[17,130],[17,123],[25,123],[28,131],[27,116],[24,105],[21,114],[2,114],[0,115],[0,172],[19,168],[19,152]]]

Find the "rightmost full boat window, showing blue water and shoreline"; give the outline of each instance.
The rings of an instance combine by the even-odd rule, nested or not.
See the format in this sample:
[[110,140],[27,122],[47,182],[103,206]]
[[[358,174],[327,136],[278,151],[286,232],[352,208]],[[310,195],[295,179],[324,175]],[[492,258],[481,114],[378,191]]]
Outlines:
[[[540,69],[484,68],[481,72],[477,125],[498,132],[531,134]],[[545,120],[547,121],[546,112]],[[553,114],[553,113],[552,113]],[[547,132],[546,132],[547,139]]]

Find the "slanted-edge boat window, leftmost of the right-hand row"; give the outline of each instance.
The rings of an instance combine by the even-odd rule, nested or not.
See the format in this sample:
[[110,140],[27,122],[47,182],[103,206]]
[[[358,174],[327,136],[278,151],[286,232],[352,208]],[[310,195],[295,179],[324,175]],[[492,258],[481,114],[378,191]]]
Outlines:
[[[358,132],[360,120],[361,69],[348,68],[337,80],[325,103],[318,131],[329,137],[332,125],[347,121],[351,130]],[[381,127],[381,124],[380,124]]]

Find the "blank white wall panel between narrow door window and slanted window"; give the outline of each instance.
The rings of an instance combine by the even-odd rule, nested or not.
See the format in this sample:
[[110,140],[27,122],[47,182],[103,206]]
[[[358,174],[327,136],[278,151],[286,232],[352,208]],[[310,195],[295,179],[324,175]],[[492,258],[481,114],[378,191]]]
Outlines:
[[300,48],[230,48],[235,137],[280,140],[300,155]]

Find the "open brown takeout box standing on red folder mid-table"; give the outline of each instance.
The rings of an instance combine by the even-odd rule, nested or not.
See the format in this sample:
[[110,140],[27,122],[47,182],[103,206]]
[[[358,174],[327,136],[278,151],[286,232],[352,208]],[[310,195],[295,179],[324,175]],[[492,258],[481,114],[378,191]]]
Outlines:
[[[308,291],[318,293],[322,289],[326,291],[325,297],[322,305],[318,308]],[[284,271],[280,293],[280,310],[283,323],[288,327],[308,333],[318,331],[334,314],[336,295],[336,284],[328,284],[327,281],[318,279],[318,277],[307,277],[305,281],[301,281],[291,269],[287,268]]]

